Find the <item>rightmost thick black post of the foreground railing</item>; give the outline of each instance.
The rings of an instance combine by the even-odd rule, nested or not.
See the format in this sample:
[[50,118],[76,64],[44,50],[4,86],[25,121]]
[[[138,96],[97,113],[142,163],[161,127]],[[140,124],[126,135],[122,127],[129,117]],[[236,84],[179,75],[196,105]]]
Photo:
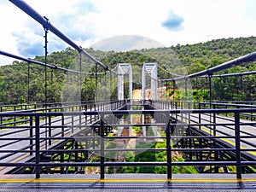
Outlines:
[[236,136],[236,178],[241,179],[241,145],[240,145],[240,116],[235,112],[235,136]]

